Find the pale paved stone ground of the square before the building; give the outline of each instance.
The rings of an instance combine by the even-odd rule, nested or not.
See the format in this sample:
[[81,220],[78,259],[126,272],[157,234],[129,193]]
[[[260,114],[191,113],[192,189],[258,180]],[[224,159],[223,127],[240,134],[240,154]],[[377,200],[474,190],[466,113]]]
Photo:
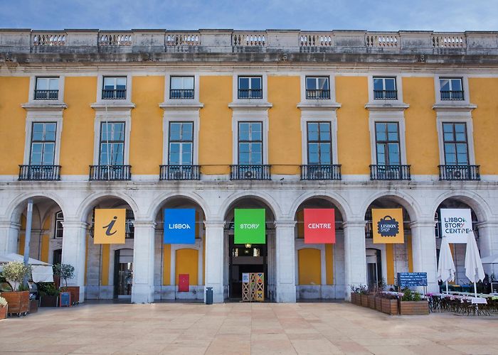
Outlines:
[[349,303],[42,308],[0,321],[0,353],[498,354],[498,316],[391,317]]

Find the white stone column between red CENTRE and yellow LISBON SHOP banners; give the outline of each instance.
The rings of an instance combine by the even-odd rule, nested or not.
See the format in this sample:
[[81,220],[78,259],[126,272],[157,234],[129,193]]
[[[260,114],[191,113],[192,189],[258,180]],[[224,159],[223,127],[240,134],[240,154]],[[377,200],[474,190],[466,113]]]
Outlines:
[[344,300],[351,300],[351,285],[366,285],[364,220],[347,221],[344,226]]

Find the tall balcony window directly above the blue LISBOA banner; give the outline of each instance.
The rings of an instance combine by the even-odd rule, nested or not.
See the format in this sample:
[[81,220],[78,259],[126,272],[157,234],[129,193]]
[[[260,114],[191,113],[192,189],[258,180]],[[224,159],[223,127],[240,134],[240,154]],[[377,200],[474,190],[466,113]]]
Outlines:
[[192,165],[194,122],[169,123],[169,165]]

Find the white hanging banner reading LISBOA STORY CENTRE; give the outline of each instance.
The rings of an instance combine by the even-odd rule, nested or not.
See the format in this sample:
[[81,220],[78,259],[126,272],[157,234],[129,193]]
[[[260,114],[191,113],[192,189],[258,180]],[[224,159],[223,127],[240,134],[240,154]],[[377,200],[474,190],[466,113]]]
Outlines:
[[468,208],[441,209],[441,236],[448,243],[467,243],[467,234],[472,231],[472,213]]

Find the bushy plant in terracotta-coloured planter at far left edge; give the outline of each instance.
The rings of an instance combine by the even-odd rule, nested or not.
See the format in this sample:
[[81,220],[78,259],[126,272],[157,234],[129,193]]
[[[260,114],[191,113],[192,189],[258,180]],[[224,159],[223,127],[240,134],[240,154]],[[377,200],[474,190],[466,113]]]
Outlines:
[[1,297],[9,303],[9,314],[26,315],[29,311],[29,288],[23,282],[31,276],[31,266],[12,261],[4,266],[2,276],[12,286],[12,291],[1,293]]

